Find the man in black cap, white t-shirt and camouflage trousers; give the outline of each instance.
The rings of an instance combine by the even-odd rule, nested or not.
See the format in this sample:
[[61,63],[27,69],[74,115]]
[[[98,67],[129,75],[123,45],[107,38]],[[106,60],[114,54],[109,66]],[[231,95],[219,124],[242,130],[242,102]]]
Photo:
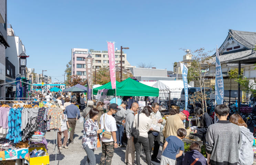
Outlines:
[[116,120],[112,116],[117,111],[120,111],[120,108],[118,108],[118,105],[116,103],[112,103],[109,105],[109,111],[107,113],[104,113],[100,117],[100,129],[103,129],[104,131],[111,132],[112,136],[110,139],[107,139],[106,137],[100,135],[100,139],[102,141],[102,155],[100,157],[100,163],[99,165],[111,165],[112,157],[114,155],[114,148],[117,148],[117,140],[116,140]]

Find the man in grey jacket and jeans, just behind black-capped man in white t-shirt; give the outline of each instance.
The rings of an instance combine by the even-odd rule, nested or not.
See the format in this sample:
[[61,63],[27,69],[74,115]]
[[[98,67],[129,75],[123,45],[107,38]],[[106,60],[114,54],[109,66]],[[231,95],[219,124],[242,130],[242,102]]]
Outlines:
[[118,106],[121,110],[116,112],[115,119],[116,119],[116,139],[117,139],[117,144],[120,145],[120,147],[125,147],[123,144],[123,136],[124,136],[124,123],[123,121],[125,120],[125,108],[127,106],[127,101],[122,101],[121,105]]

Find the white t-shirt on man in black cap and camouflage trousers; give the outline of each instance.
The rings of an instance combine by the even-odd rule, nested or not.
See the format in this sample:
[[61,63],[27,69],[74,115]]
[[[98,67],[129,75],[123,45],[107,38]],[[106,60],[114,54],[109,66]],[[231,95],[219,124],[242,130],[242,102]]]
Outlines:
[[[107,113],[104,113],[101,117],[100,117],[100,129],[104,129],[104,119],[103,117],[105,116],[105,128],[107,132],[115,132],[117,131],[116,128],[116,120],[112,115],[108,115]],[[110,139],[107,139],[106,137],[103,137],[102,134],[100,135],[100,139],[103,142],[113,142],[113,137],[111,136]]]

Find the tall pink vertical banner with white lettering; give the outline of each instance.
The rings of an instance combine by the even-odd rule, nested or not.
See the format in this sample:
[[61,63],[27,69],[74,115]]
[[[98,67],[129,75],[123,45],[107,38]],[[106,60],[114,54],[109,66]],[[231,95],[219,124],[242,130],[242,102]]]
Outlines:
[[108,42],[108,59],[109,72],[112,89],[116,89],[116,67],[115,67],[115,51],[114,43]]

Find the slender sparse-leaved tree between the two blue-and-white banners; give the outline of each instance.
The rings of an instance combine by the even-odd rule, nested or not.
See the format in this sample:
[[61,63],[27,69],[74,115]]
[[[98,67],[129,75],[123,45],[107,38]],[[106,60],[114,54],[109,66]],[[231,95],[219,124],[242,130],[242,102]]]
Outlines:
[[[184,49],[183,49],[184,50]],[[194,102],[197,100],[201,103],[202,109],[207,112],[206,100],[209,99],[205,93],[205,76],[215,61],[212,56],[209,55],[212,51],[206,52],[204,48],[195,50],[192,54],[192,63],[188,69],[188,80],[198,81],[200,92],[195,97],[191,98],[190,101]]]

